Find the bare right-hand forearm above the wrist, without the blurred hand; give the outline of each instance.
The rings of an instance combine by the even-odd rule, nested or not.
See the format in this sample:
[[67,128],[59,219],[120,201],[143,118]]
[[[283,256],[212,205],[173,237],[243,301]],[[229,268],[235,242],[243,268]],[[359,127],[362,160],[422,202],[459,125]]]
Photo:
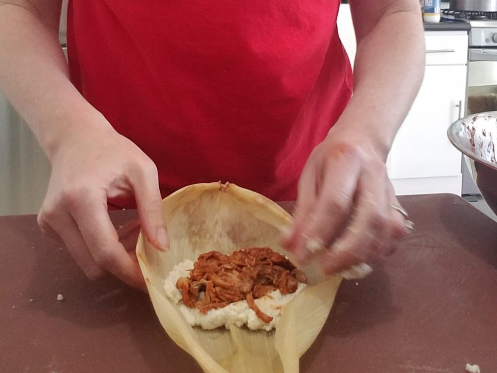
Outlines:
[[354,94],[336,127],[365,134],[386,159],[423,73],[424,37],[418,9],[383,15],[358,42]]

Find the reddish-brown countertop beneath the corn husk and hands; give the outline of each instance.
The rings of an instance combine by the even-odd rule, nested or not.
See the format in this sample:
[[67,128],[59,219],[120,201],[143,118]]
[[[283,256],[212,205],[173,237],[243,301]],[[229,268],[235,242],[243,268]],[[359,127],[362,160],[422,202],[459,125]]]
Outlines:
[[[342,283],[302,373],[497,372],[497,223],[455,195],[400,201],[416,229],[369,278]],[[0,237],[0,373],[201,372],[145,294],[90,283],[35,216],[0,217]]]

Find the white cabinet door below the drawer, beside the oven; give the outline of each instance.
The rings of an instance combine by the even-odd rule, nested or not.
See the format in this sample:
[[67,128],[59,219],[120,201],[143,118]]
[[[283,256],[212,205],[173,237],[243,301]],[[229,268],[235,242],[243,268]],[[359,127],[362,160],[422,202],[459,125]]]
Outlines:
[[465,65],[426,66],[387,162],[397,194],[461,194],[461,153],[447,138],[466,91]]

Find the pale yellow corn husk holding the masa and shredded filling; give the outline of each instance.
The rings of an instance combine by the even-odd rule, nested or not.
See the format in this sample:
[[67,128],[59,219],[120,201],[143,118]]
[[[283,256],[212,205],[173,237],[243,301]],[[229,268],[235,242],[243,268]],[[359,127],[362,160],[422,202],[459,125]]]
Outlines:
[[[137,256],[150,298],[169,337],[207,373],[297,373],[299,358],[318,336],[341,278],[324,278],[312,267],[301,268],[308,287],[284,308],[275,330],[251,331],[232,326],[203,330],[191,327],[165,295],[164,281],[172,267],[195,261],[210,250],[278,244],[279,229],[291,216],[269,199],[235,184],[195,184],[163,201],[170,248],[161,252],[140,233]],[[291,259],[291,256],[290,256]]]

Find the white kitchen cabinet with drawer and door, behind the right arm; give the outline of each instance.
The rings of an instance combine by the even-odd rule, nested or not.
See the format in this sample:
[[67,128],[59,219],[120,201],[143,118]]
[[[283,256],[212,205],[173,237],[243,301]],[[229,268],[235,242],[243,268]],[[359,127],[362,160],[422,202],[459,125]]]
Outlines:
[[[338,33],[351,60],[356,45],[348,4],[338,13]],[[387,160],[398,195],[461,194],[461,153],[447,138],[466,97],[468,35],[463,31],[425,32],[425,75]],[[408,45],[406,45],[406,48]],[[461,109],[462,110],[462,109]]]

